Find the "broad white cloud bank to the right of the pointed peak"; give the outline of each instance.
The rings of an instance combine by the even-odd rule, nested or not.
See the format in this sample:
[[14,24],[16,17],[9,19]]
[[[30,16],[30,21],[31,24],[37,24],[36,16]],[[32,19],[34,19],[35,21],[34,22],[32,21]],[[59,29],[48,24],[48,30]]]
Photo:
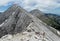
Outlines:
[[[25,9],[55,9],[60,7],[60,4],[57,3],[57,0],[23,0],[23,5]],[[32,3],[36,3],[35,6],[32,6]]]

